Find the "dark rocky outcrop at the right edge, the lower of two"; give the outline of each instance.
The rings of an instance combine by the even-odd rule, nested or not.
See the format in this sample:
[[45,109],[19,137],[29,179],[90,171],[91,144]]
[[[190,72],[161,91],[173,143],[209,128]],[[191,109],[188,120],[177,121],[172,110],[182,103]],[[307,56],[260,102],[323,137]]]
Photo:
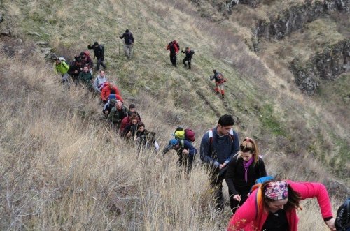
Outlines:
[[308,94],[313,94],[319,80],[335,80],[342,73],[350,71],[350,39],[325,47],[316,53],[307,64],[295,59],[290,64],[297,86]]

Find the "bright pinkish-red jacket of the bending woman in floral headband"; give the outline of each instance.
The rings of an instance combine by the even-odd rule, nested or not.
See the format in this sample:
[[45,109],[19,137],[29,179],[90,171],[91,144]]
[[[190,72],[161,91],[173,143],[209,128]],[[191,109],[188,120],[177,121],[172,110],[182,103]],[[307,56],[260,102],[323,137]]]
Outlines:
[[[316,197],[321,208],[323,218],[330,218],[333,216],[328,192],[323,184],[311,182],[287,182],[294,191],[300,193],[302,200]],[[241,230],[243,228],[244,231],[262,230],[262,226],[264,225],[269,213],[262,208],[261,198],[261,189],[255,189],[255,191],[253,191],[253,193],[251,193],[251,195],[248,197],[246,202],[244,202],[244,204],[237,209],[236,214],[232,216],[228,225],[228,231]],[[297,222],[299,221],[299,218],[297,218],[296,209],[286,211],[286,216],[289,224],[289,230],[297,231]]]

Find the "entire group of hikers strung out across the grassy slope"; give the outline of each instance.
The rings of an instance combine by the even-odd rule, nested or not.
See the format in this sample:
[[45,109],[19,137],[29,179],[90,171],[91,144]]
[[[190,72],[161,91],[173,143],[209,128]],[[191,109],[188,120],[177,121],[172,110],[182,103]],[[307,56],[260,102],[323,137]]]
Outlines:
[[[125,39],[125,55],[131,59],[134,37],[126,30],[120,36],[120,39],[122,38]],[[95,42],[87,47],[94,51],[94,57],[97,59],[95,70],[99,75],[92,81],[92,59],[88,52],[81,52],[79,56],[74,57],[71,65],[62,57],[55,59],[55,70],[62,75],[62,82],[69,82],[71,76],[76,85],[83,84],[94,96],[99,95],[104,104],[102,113],[113,131],[130,144],[136,145],[139,153],[145,149],[158,152],[160,145],[155,139],[155,132],[146,130],[137,107],[134,104],[126,107],[120,90],[106,76],[104,46]],[[172,64],[176,66],[179,43],[174,40],[168,44],[167,49],[170,50]],[[194,52],[186,47],[184,53],[186,57],[183,64],[188,65],[190,69]],[[104,69],[99,70],[100,66]],[[215,91],[224,98],[223,75],[214,70],[214,75],[210,78],[216,80]],[[234,125],[232,115],[224,114],[214,128],[204,133],[200,142],[200,159],[209,169],[215,208],[218,212],[223,212],[225,207],[223,181],[228,185],[232,211],[228,230],[297,230],[296,211],[301,209],[300,201],[306,198],[317,198],[323,221],[330,230],[336,230],[335,225],[346,230],[346,222],[349,222],[350,218],[339,218],[339,221],[337,218],[336,222],[332,215],[328,192],[323,184],[274,179],[268,176],[257,142],[251,137],[245,137],[239,144]],[[162,156],[174,150],[179,156],[179,170],[190,176],[198,152],[193,144],[195,132],[190,128],[178,127],[172,135],[172,139],[162,150]],[[349,210],[342,214],[348,214]]]

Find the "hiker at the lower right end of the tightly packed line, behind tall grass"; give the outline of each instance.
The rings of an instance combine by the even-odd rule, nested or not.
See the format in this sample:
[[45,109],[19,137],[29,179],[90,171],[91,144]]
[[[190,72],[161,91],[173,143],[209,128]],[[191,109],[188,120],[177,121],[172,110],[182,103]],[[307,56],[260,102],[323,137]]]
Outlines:
[[159,150],[159,144],[155,140],[155,133],[147,131],[145,129],[145,124],[139,122],[137,124],[137,151],[140,153],[144,149],[151,149],[154,147],[153,151],[157,152]]

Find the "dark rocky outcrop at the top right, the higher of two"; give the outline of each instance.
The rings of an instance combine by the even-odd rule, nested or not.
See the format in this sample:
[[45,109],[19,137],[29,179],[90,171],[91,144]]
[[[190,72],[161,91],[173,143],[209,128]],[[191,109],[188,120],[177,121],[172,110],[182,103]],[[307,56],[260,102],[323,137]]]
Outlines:
[[300,6],[293,6],[284,10],[276,18],[260,20],[253,29],[255,40],[282,39],[304,24],[316,20],[318,17],[328,15],[332,11],[350,13],[350,0],[324,0],[316,3],[307,1]]

